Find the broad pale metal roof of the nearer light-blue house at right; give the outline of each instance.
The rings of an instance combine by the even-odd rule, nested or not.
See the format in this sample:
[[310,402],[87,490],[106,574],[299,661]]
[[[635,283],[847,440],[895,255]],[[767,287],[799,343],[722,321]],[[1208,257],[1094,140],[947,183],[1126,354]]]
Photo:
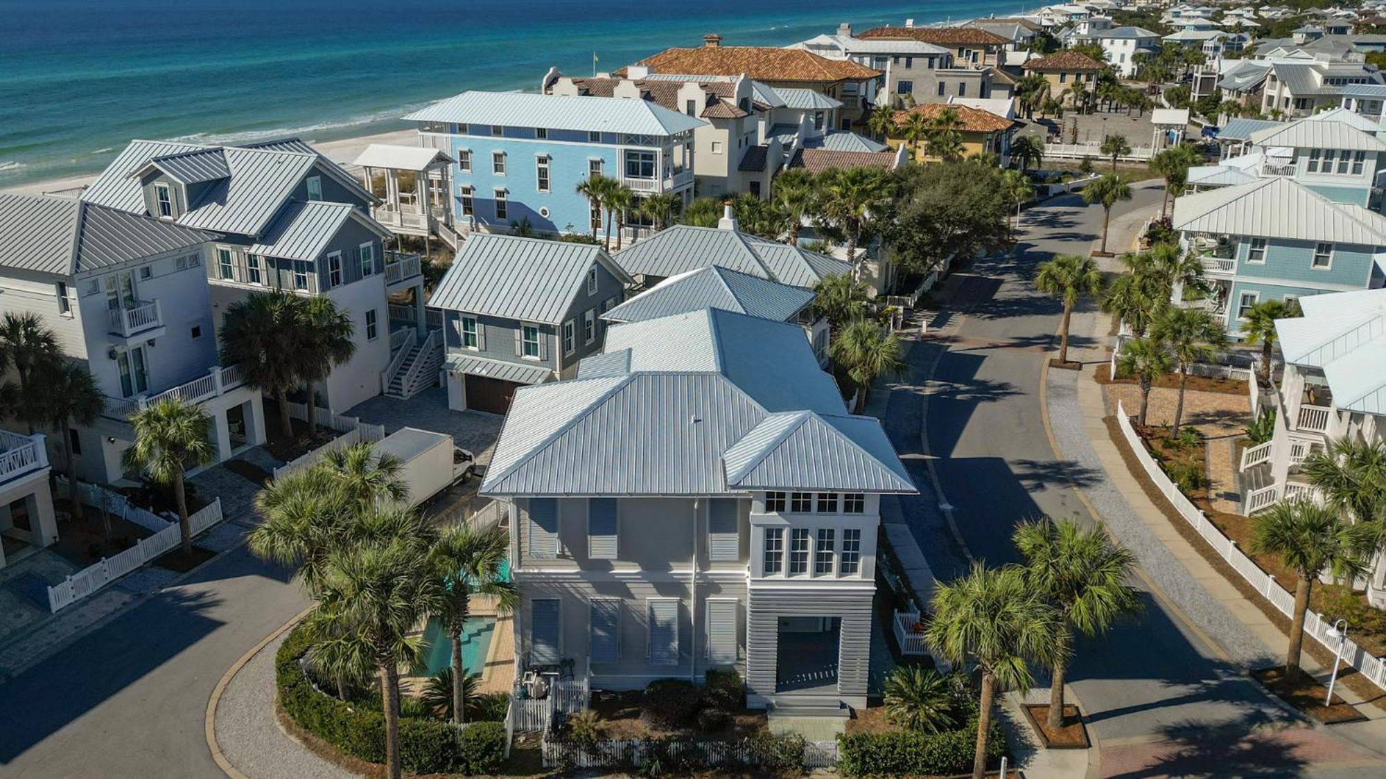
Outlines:
[[1181,197],[1174,201],[1173,226],[1195,233],[1386,245],[1379,222],[1283,176]]

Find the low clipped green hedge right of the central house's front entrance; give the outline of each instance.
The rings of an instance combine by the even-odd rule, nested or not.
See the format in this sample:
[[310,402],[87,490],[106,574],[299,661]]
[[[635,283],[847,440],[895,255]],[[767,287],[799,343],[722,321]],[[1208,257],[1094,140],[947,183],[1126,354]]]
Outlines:
[[[949,776],[972,771],[977,749],[977,722],[947,733],[893,730],[837,736],[837,768],[845,776]],[[987,764],[1006,754],[1006,735],[999,722],[987,737]]]

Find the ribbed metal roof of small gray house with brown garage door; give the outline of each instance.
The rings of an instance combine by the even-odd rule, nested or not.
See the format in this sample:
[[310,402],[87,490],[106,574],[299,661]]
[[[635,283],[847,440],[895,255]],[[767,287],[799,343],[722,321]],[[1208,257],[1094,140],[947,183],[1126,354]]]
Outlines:
[[629,280],[592,244],[473,233],[428,305],[559,324],[585,284],[588,269],[599,262],[622,281]]

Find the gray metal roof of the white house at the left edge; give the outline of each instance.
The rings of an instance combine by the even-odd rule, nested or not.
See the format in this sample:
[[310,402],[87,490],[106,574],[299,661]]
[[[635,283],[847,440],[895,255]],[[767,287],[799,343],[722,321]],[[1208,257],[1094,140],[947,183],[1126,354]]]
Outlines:
[[0,266],[73,276],[215,236],[72,198],[0,193]]

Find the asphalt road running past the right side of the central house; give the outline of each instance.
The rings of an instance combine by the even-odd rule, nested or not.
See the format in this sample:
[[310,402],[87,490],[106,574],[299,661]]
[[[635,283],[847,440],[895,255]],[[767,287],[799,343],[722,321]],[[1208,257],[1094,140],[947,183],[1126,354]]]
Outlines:
[[[1138,189],[1113,216],[1149,211],[1159,200],[1159,189]],[[1027,212],[1016,252],[959,269],[931,323],[938,335],[911,345],[909,377],[891,392],[886,427],[915,482],[924,485],[902,507],[941,579],[956,575],[966,561],[938,502],[951,505],[972,556],[990,564],[1017,560],[1010,531],[1019,521],[1044,514],[1094,521],[1073,484],[1081,487],[1095,474],[1056,459],[1040,414],[1041,369],[1062,308],[1038,294],[1031,279],[1053,254],[1085,254],[1100,226],[1100,208],[1085,208],[1077,197]],[[931,366],[933,380],[926,381]],[[919,456],[922,435],[936,457],[942,496]],[[1170,607],[1142,595],[1139,621],[1081,642],[1070,671],[1071,689],[1103,751],[1132,744],[1174,750],[1177,771],[1192,775],[1303,773],[1306,767],[1292,750],[1246,739],[1254,729],[1285,724],[1285,712]],[[1114,768],[1105,765],[1103,775],[1120,775]]]

